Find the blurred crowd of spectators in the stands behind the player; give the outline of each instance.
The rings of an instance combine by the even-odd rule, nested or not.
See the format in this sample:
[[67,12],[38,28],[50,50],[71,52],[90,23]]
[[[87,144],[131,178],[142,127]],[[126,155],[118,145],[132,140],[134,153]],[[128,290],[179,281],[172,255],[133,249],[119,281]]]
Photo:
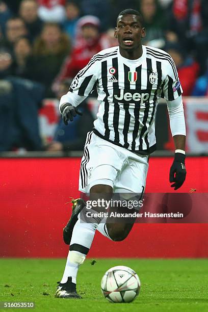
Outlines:
[[172,56],[184,95],[208,95],[207,0],[3,0],[0,151],[83,149],[93,123],[86,102],[85,122],[77,117],[66,129],[60,119],[47,144],[39,134],[38,111],[44,98],[59,99],[68,91],[94,54],[118,45],[116,19],[126,8],[143,15],[143,44]]

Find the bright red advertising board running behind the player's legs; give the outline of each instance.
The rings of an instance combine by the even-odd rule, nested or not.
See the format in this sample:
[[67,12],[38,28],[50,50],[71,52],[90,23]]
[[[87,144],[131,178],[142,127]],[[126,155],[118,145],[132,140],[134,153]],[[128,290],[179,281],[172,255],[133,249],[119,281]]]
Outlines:
[[[77,191],[80,158],[1,159],[1,257],[65,257],[62,228]],[[171,158],[150,159],[146,192],[170,193]],[[207,158],[187,158],[177,192],[208,193]],[[135,224],[123,242],[96,233],[89,257],[207,257],[207,224]]]

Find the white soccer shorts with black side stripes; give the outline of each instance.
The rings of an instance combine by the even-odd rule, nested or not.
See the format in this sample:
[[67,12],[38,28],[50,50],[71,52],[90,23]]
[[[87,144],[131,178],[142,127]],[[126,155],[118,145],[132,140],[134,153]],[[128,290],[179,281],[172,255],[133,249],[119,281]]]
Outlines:
[[94,185],[113,188],[114,193],[143,193],[148,155],[137,155],[88,132],[81,161],[79,190],[89,193]]

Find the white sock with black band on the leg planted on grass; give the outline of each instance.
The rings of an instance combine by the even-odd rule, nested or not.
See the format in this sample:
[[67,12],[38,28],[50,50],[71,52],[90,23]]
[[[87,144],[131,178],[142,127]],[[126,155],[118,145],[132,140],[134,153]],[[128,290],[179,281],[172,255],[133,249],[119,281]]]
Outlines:
[[[96,219],[94,221],[97,222],[98,220]],[[72,245],[75,246],[76,244],[80,245],[81,250],[83,249],[85,251],[87,249],[87,251],[85,251],[85,253],[82,253],[76,250],[69,250],[66,267],[61,283],[66,283],[69,276],[72,277],[72,282],[76,283],[77,271],[79,269],[79,266],[83,264],[88,249],[91,247],[97,226],[98,223],[81,222],[80,218],[76,221],[72,232],[70,248]]]

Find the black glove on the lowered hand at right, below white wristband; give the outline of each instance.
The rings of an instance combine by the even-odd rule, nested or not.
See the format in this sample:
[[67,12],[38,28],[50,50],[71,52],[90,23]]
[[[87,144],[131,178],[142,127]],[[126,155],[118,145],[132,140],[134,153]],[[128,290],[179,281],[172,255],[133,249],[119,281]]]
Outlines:
[[179,189],[186,179],[185,158],[185,154],[175,153],[175,158],[170,168],[170,182],[175,182],[171,185],[171,188],[174,188],[174,190]]

